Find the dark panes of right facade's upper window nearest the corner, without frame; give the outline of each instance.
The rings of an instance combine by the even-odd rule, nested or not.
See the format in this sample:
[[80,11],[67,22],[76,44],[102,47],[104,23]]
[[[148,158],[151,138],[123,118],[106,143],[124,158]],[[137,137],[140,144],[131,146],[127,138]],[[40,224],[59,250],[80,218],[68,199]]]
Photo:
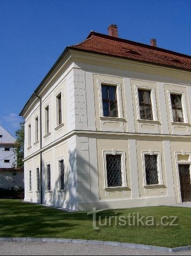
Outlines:
[[118,117],[116,86],[102,85],[103,116]]

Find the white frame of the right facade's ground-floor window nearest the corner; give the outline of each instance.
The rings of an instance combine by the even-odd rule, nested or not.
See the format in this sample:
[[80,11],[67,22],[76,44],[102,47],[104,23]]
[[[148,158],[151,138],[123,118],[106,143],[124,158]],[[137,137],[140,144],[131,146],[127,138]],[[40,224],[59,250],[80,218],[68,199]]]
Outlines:
[[[121,155],[122,186],[119,186],[119,187],[108,187],[106,155]],[[117,151],[115,149],[112,149],[110,151],[103,151],[103,169],[104,169],[104,189],[127,187],[126,154],[125,154],[124,151]]]

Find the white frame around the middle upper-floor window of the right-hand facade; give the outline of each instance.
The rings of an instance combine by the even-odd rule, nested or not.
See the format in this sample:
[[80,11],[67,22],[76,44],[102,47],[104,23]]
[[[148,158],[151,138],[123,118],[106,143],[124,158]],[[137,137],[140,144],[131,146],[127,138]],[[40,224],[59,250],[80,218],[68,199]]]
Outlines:
[[[136,105],[137,105],[137,119],[138,120],[146,120],[146,121],[158,121],[158,115],[157,115],[157,105],[156,105],[156,93],[155,88],[151,86],[145,86],[145,85],[135,85],[135,98],[136,98]],[[152,111],[153,111],[153,120],[148,119],[140,119],[140,106],[139,106],[139,94],[138,89],[146,90],[151,92],[151,105],[152,105]]]

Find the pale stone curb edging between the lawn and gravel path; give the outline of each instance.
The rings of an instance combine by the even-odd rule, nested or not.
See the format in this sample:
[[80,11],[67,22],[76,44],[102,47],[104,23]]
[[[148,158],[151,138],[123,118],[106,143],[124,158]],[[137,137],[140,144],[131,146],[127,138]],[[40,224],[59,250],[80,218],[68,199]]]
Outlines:
[[111,241],[97,241],[97,240],[81,240],[81,239],[63,239],[63,238],[37,238],[37,237],[0,237],[0,242],[57,242],[57,243],[78,243],[78,244],[91,244],[91,245],[110,245],[110,246],[120,246],[130,249],[145,249],[145,250],[157,250],[164,252],[178,252],[178,251],[188,251],[191,250],[191,245],[182,247],[160,247],[154,245],[145,245],[138,243],[120,243]]

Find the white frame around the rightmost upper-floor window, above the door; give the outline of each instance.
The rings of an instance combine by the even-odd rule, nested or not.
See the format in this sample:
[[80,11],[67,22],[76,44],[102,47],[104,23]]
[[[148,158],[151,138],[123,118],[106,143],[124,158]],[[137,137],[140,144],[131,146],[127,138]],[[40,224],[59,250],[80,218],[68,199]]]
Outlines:
[[168,89],[167,94],[168,94],[171,122],[174,123],[173,114],[172,114],[171,94],[178,94],[178,95],[181,95],[181,103],[182,103],[182,112],[183,112],[184,122],[176,122],[176,123],[188,123],[188,113],[187,113],[187,108],[186,108],[185,92],[180,91],[180,90]]

